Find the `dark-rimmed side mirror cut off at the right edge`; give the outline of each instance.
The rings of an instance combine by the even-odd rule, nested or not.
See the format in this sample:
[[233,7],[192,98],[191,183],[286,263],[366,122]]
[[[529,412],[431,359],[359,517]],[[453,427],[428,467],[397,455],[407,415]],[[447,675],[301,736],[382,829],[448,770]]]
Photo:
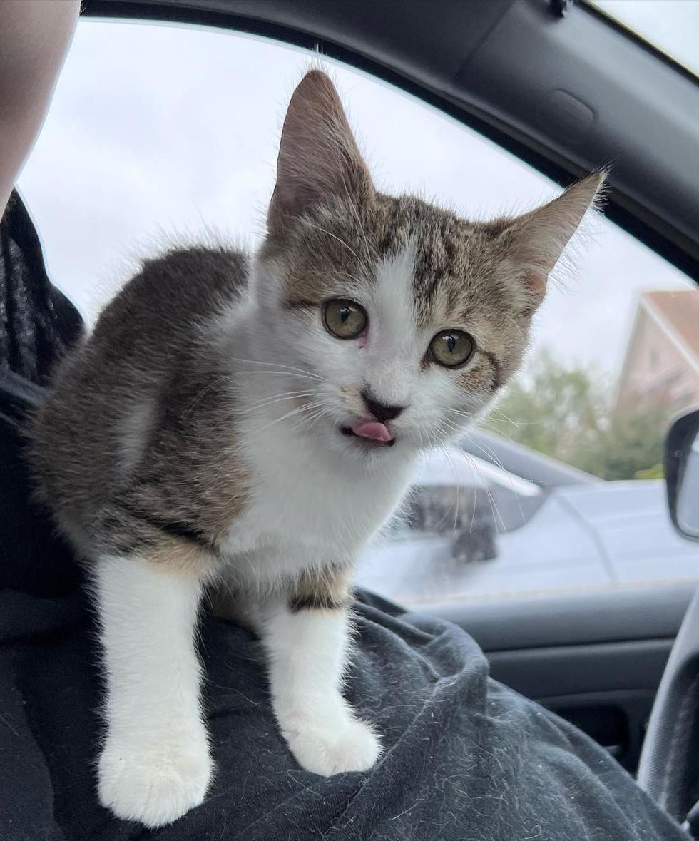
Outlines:
[[699,541],[699,409],[675,418],[665,439],[670,517],[688,540]]

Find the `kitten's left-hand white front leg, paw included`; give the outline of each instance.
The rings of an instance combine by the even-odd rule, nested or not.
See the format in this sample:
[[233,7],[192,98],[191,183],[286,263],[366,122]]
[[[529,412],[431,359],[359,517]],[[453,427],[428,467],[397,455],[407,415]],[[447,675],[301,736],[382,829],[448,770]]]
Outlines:
[[162,826],[204,800],[213,770],[193,638],[201,584],[130,558],[102,558],[96,584],[107,680],[99,800]]

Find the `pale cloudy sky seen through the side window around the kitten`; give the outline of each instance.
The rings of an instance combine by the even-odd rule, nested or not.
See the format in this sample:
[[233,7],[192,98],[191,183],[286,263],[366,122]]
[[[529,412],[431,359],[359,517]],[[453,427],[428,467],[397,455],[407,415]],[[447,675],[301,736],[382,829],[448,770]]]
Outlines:
[[[311,56],[264,40],[164,24],[82,21],[19,181],[51,277],[82,312],[164,241],[262,235],[289,94]],[[470,217],[526,209],[556,187],[473,131],[384,82],[328,64],[375,181]],[[603,219],[554,285],[537,345],[617,372],[638,295],[686,279]]]

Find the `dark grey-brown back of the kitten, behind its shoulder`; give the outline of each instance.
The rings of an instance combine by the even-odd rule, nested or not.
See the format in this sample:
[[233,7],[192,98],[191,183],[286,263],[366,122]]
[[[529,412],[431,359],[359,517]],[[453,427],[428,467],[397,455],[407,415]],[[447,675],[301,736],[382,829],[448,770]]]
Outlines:
[[167,384],[192,367],[202,326],[245,294],[248,271],[247,255],[225,248],[147,260],[58,366],[34,418],[30,457],[40,497],[77,542],[87,542],[86,523],[128,481]]

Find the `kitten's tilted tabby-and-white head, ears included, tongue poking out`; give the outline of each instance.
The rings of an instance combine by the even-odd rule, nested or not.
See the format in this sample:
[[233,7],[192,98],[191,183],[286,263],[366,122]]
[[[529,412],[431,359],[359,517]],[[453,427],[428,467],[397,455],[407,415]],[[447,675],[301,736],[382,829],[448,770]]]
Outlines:
[[490,223],[382,195],[330,79],[311,71],[283,124],[255,289],[267,361],[297,372],[299,429],[373,453],[457,434],[522,361],[602,180]]

